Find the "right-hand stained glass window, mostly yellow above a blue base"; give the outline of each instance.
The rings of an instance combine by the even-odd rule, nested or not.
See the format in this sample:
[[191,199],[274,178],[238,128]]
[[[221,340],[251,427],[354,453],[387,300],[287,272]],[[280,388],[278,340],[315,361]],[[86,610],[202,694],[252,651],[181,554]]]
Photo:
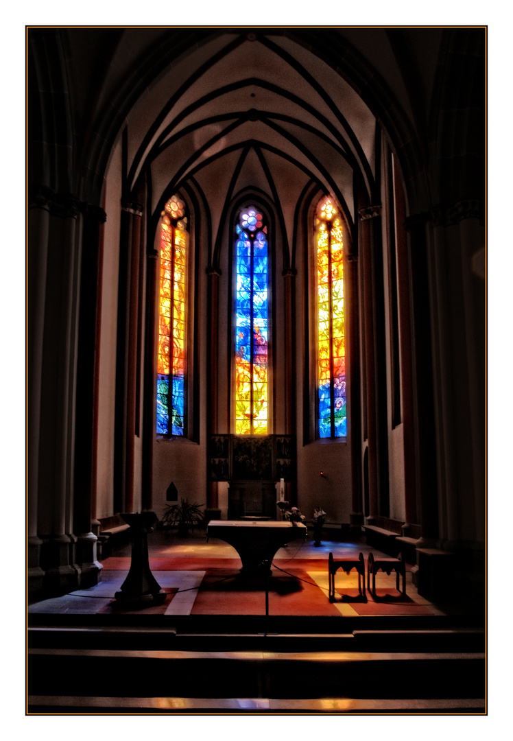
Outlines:
[[346,348],[341,218],[331,199],[315,215],[318,436],[345,437]]

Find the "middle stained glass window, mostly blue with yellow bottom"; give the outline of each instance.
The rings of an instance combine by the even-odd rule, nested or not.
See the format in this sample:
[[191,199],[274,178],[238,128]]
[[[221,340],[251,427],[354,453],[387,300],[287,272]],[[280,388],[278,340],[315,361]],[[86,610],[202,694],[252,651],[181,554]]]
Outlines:
[[269,256],[264,216],[241,211],[235,227],[235,433],[266,434]]

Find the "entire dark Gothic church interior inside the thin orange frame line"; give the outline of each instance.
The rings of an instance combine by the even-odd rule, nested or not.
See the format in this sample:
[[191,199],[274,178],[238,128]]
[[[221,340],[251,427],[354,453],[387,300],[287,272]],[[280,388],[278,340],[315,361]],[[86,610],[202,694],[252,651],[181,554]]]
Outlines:
[[485,218],[486,27],[27,27],[29,714],[486,713]]

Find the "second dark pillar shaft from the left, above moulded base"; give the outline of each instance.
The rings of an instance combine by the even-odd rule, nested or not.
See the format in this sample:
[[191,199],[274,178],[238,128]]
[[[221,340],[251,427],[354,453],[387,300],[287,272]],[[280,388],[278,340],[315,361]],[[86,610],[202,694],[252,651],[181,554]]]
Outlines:
[[44,588],[78,585],[73,566],[73,469],[80,239],[79,203],[54,196],[48,230],[41,416],[38,460],[38,534]]

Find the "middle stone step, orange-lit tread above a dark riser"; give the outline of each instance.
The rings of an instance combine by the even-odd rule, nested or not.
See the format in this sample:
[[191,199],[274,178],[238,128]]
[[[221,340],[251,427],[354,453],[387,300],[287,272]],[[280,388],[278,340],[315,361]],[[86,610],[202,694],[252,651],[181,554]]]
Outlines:
[[485,697],[481,652],[30,648],[27,658],[28,693],[52,697]]

